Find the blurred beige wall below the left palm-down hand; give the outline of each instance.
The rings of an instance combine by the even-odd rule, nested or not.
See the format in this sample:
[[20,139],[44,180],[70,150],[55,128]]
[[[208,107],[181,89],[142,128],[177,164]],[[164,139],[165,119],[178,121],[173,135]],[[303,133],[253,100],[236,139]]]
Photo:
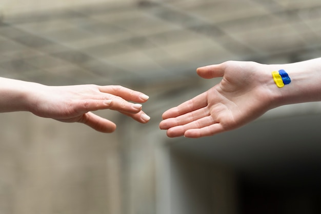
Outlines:
[[117,134],[0,114],[0,213],[121,213]]

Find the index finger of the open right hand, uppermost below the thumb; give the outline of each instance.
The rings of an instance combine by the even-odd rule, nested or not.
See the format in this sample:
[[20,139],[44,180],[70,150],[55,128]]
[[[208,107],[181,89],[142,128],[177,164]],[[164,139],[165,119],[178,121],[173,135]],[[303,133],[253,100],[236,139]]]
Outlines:
[[207,92],[195,96],[195,98],[186,101],[176,107],[165,111],[162,115],[163,120],[168,118],[175,118],[176,116],[195,111],[199,108],[207,106]]

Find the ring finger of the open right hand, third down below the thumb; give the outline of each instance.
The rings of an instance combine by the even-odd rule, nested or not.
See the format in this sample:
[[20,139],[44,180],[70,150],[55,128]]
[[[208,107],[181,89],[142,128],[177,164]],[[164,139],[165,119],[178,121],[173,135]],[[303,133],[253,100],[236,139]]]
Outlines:
[[197,121],[193,121],[193,122],[186,124],[186,125],[175,126],[175,127],[169,128],[167,130],[167,135],[170,138],[180,137],[180,136],[183,136],[184,133],[189,129],[199,129],[199,128],[203,128],[206,126],[210,126],[215,123],[216,122],[214,121],[214,119],[211,116],[206,116],[205,118],[201,118]]

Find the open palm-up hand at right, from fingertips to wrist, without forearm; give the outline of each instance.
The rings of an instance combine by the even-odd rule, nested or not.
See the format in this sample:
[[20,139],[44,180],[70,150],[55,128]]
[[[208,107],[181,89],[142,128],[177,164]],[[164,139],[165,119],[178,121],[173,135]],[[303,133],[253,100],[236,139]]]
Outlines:
[[197,74],[205,79],[223,79],[208,91],[164,112],[159,128],[168,129],[168,137],[199,138],[256,119],[273,106],[267,84],[272,76],[267,70],[266,65],[234,61],[198,68]]

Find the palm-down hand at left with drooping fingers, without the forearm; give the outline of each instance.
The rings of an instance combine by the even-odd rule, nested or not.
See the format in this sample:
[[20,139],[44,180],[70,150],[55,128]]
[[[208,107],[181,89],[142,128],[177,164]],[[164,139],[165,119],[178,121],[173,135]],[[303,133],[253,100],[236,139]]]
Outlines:
[[62,122],[84,123],[101,132],[113,132],[116,125],[91,111],[111,109],[130,116],[140,123],[147,123],[149,116],[141,104],[148,96],[122,86],[44,86],[37,84],[30,93],[29,111],[37,116]]

